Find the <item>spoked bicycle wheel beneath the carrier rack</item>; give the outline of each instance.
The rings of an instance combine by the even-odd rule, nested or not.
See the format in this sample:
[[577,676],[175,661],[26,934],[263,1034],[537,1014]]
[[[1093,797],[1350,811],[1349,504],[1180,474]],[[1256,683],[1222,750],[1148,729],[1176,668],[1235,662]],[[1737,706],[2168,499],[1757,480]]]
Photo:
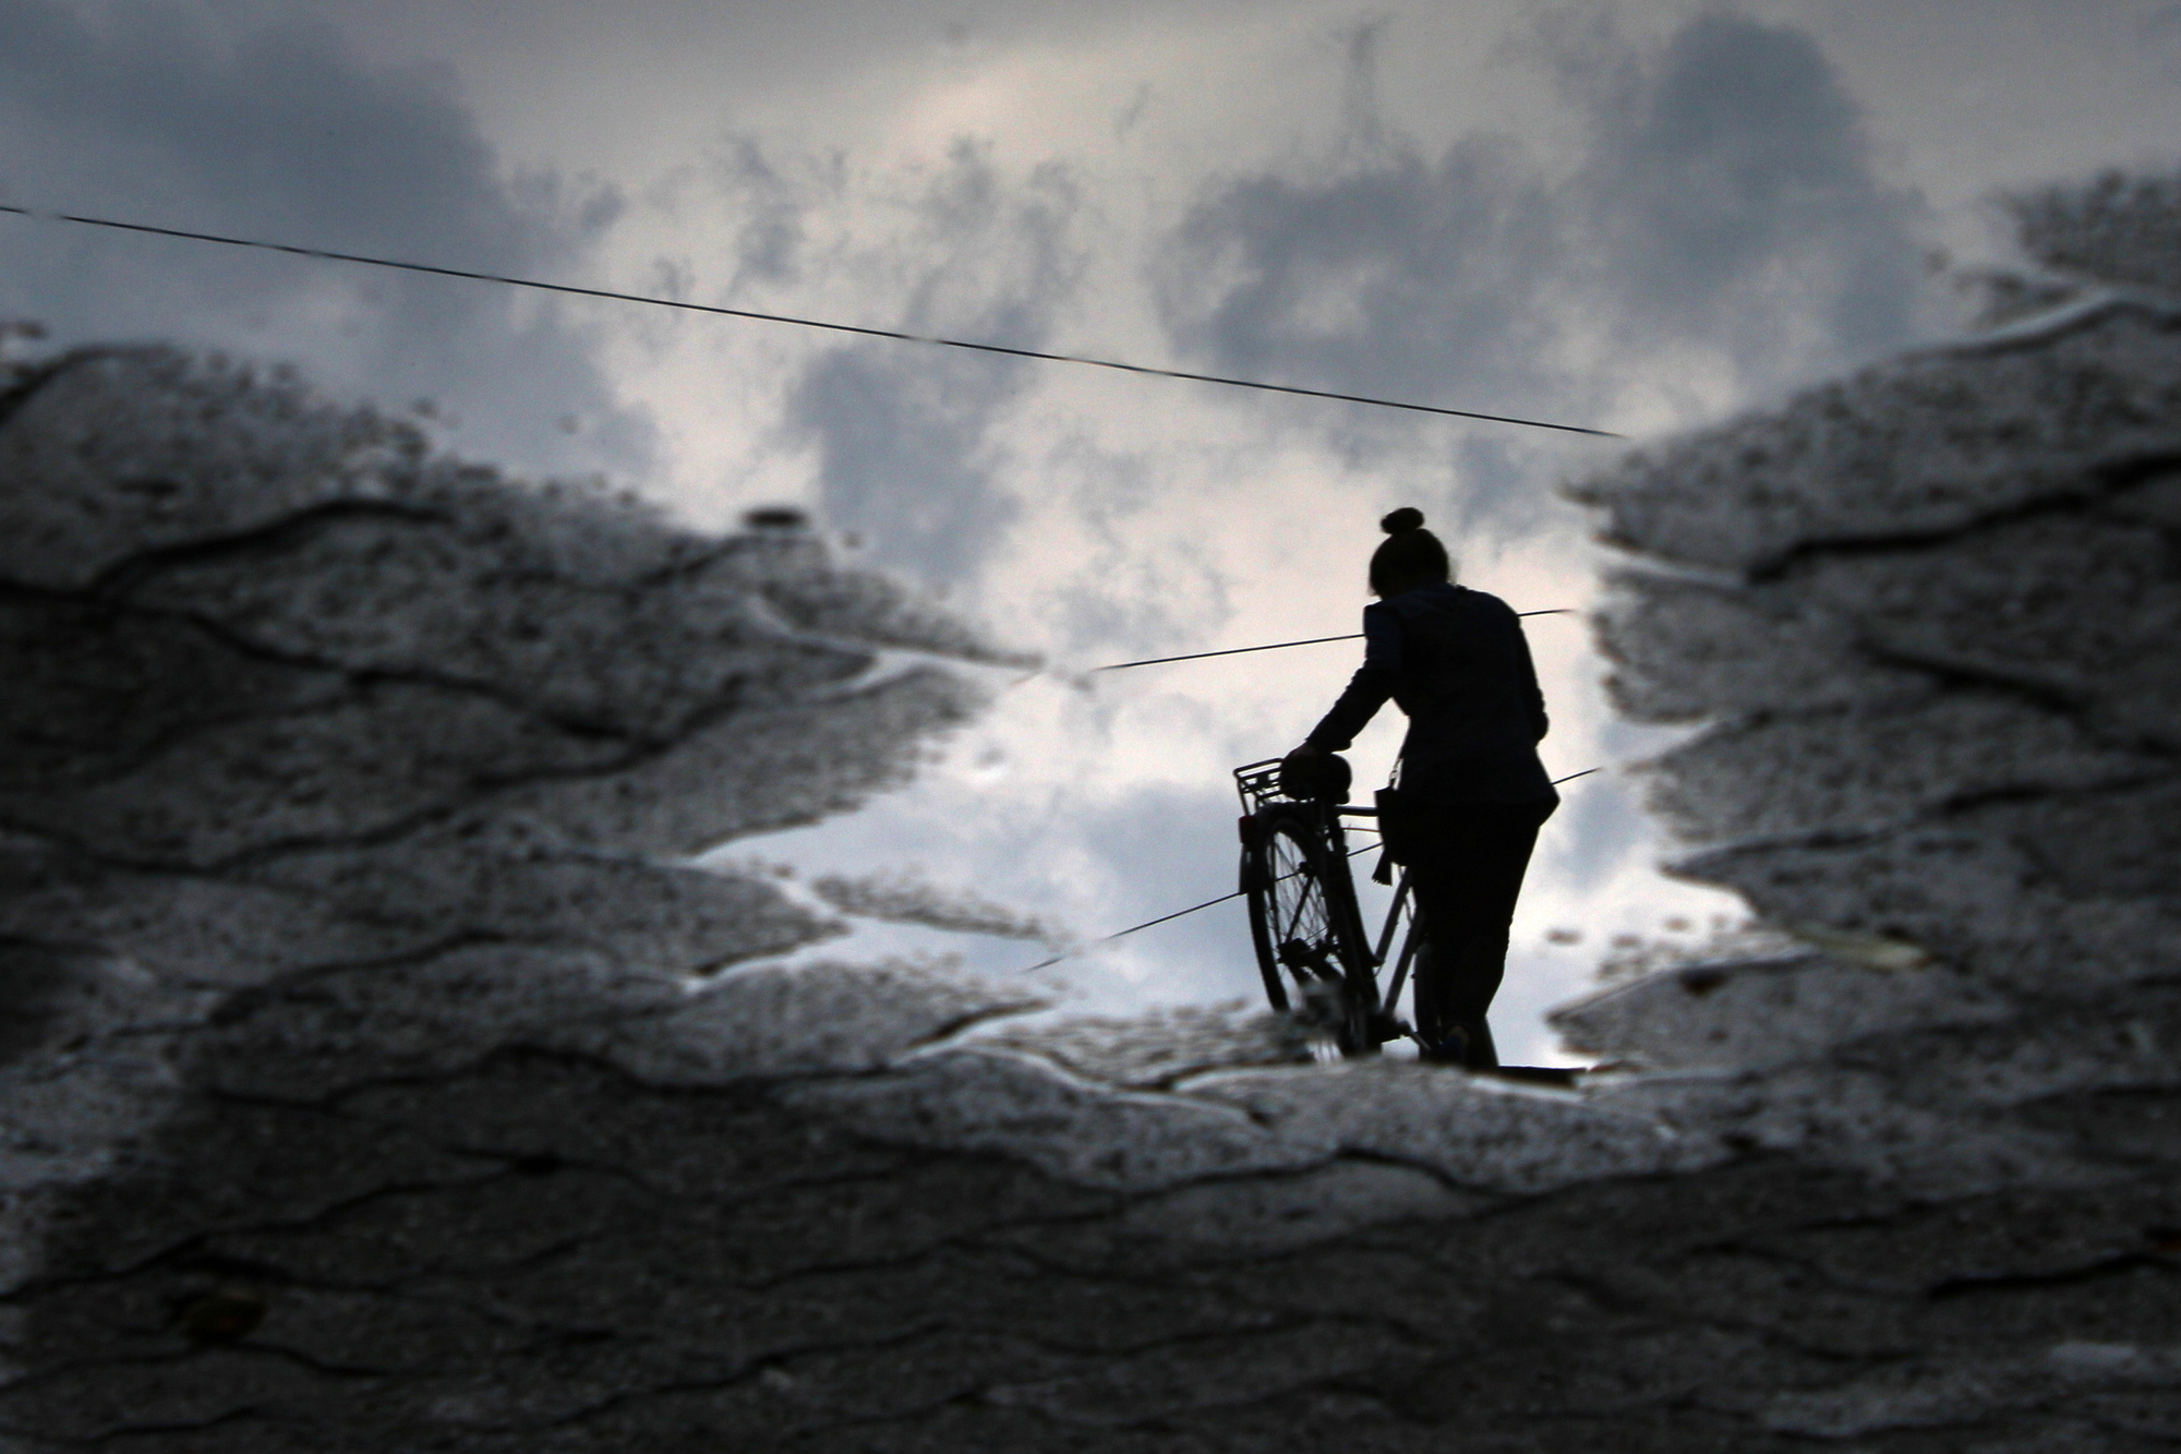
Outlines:
[[1370,950],[1357,917],[1348,860],[1339,858],[1306,808],[1272,808],[1252,821],[1243,849],[1250,941],[1272,1009],[1287,1011],[1287,985],[1304,996],[1337,996],[1335,1039],[1343,1054],[1378,1048]]

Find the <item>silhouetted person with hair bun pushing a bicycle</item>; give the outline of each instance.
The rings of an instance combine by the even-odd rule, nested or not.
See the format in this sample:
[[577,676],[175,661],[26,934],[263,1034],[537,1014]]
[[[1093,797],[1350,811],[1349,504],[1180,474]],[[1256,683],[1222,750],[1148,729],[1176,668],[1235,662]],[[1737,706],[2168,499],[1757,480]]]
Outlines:
[[1378,600],[1363,607],[1363,666],[1282,771],[1306,779],[1387,696],[1409,714],[1400,858],[1426,943],[1415,1030],[1426,1059],[1490,1068],[1498,1054],[1485,1011],[1507,972],[1507,926],[1538,827],[1559,806],[1538,762],[1544,692],[1514,609],[1450,581],[1424,515],[1398,509],[1378,524],[1387,539],[1370,559]]

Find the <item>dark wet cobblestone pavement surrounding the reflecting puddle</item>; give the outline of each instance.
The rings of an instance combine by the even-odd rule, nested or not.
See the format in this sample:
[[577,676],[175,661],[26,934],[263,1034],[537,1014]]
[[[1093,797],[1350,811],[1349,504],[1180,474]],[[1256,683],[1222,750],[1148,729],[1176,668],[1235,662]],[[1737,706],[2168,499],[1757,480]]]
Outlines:
[[0,1441],[2153,1450],[2181,1439],[2174,183],[2044,310],[1579,489],[1686,871],[1788,930],[1577,1092],[1058,1030],[685,856],[1003,655],[166,351],[0,402]]

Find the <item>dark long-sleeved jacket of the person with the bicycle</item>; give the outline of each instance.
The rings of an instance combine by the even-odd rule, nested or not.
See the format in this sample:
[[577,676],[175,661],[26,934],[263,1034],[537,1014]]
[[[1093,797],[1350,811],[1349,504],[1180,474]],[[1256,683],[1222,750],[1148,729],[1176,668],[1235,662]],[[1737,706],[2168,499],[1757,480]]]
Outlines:
[[1544,692],[1522,622],[1498,596],[1420,585],[1363,607],[1363,666],[1306,738],[1337,753],[1391,696],[1409,714],[1402,797],[1420,803],[1557,803],[1538,762]]

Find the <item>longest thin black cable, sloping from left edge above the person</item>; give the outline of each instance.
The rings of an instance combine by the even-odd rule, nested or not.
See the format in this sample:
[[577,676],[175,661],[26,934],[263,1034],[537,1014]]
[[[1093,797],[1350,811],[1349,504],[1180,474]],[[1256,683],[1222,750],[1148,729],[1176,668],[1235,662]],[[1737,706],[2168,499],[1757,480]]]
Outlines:
[[292,242],[260,242],[255,238],[227,238],[216,231],[185,231],[181,227],[153,227],[150,223],[118,223],[105,216],[79,216],[74,212],[33,212],[0,203],[0,212],[48,223],[79,223],[83,227],[111,227],[116,231],[140,231],[153,238],[181,238],[185,242],[218,242],[220,247],[253,247],[266,253],[288,253],[290,258],[318,258],[323,262],[358,262],[373,269],[397,269],[401,273],[425,273],[430,277],[465,277],[469,282],[506,284],[508,288],[537,288],[539,293],[567,293],[569,297],[598,297],[615,303],[646,303],[650,308],[678,308],[683,312],[709,312],[722,319],[750,319],[755,323],[794,323],[796,327],[822,327],[835,334],[857,334],[864,338],[892,338],[896,343],[931,343],[949,349],[973,349],[977,354],[1005,354],[1008,358],[1036,358],[1043,362],[1073,362],[1093,369],[1119,369],[1121,373],[1147,373],[1152,378],[1180,378],[1193,384],[1226,384],[1228,389],[1261,389],[1265,393],[1296,393],[1306,400],[1335,400],[1339,404],[1370,404],[1374,408],[1405,408],[1415,415],[1446,415],[1448,419],[1481,419],[1485,424],[1520,424],[1533,430],[1559,430],[1564,434],[1594,434],[1599,439],[1623,439],[1612,430],[1592,430],[1581,424],[1553,424],[1549,419],[1518,419],[1514,415],[1483,415],[1470,408],[1442,408],[1437,404],[1405,404],[1400,400],[1374,400],[1361,393],[1333,393],[1330,389],[1302,389],[1300,384],[1267,384],[1254,378],[1224,378],[1219,373],[1189,373],[1186,369],[1154,369],[1152,365],[1117,362],[1112,358],[1084,358],[1080,354],[1043,354],[1038,349],[1014,349],[1003,343],[975,343],[971,338],[940,338],[936,334],[905,334],[894,327],[864,327],[859,323],[827,323],[824,319],[798,319],[785,312],[757,312],[752,308],[720,308],[713,303],[685,303],[672,297],[646,297],[641,293],[613,293],[608,288],[578,288],[576,284],[550,284],[534,277],[508,277],[504,273],[475,273],[469,269],[443,269],[430,262],[399,262],[395,258],[366,258],[364,253],[336,253],[323,247],[297,247]]

